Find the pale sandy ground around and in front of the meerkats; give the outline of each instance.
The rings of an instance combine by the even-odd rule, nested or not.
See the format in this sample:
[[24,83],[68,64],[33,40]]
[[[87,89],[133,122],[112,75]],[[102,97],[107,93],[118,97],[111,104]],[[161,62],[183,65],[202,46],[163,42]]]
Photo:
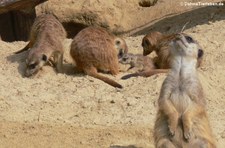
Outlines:
[[[208,9],[202,10],[207,14]],[[213,11],[214,12],[214,11]],[[198,70],[207,99],[207,112],[218,148],[225,145],[225,14],[215,11],[195,18],[184,31],[205,51]],[[177,31],[186,15],[169,18]],[[171,21],[172,19],[177,21]],[[189,19],[190,19],[189,18]],[[199,20],[200,19],[200,20]],[[167,20],[164,20],[167,21]],[[160,23],[160,22],[159,22]],[[161,26],[165,22],[161,22]],[[154,30],[162,28],[160,24]],[[141,53],[141,39],[126,37],[130,52]],[[71,39],[65,41],[65,58]],[[1,147],[153,148],[152,130],[159,90],[166,74],[121,80],[115,89],[85,75],[56,74],[46,66],[33,79],[24,78],[25,55],[13,55],[25,42],[0,41],[0,145]]]

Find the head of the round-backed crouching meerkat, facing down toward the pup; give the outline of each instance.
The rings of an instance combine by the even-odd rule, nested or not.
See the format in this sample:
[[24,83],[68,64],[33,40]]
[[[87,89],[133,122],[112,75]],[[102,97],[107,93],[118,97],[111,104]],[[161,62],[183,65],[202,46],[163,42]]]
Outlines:
[[115,38],[114,42],[115,47],[118,51],[118,59],[121,59],[124,56],[124,54],[127,54],[128,52],[127,44],[124,39],[119,37]]

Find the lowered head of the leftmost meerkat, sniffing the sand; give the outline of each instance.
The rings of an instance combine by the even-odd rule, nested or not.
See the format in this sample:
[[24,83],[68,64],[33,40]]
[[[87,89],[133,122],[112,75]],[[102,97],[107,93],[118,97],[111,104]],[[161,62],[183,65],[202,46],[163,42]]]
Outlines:
[[45,54],[33,53],[29,54],[26,59],[26,77],[31,77],[38,73],[42,66],[48,61]]

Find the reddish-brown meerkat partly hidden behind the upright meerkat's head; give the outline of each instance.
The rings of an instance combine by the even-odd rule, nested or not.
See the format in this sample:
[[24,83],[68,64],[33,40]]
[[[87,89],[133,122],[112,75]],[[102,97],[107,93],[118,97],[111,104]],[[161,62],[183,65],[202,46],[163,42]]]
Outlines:
[[[153,59],[155,65],[159,69],[169,69],[170,68],[170,52],[169,43],[174,39],[176,34],[164,35],[160,32],[153,31],[147,34],[142,39],[143,55],[146,56],[153,51],[156,52],[157,57]],[[198,44],[198,43],[196,43]],[[200,45],[198,44],[199,48]],[[202,64],[203,55],[198,57],[197,67]]]

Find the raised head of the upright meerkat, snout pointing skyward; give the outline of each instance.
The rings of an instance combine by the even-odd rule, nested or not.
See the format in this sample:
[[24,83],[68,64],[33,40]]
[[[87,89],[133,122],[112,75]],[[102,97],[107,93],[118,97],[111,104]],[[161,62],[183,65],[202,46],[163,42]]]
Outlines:
[[177,34],[172,44],[174,46],[172,50],[175,50],[172,52],[179,54],[179,56],[199,59],[202,58],[204,54],[197,41],[184,33]]

